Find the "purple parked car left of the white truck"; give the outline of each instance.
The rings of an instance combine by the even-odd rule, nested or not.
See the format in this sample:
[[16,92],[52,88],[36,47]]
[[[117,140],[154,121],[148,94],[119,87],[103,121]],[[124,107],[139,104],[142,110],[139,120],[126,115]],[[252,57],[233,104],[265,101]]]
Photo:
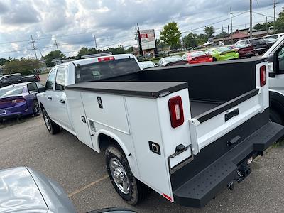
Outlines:
[[[28,84],[20,83],[0,88],[0,120],[33,114],[40,115],[37,92],[28,92]],[[43,87],[36,82],[38,87]]]

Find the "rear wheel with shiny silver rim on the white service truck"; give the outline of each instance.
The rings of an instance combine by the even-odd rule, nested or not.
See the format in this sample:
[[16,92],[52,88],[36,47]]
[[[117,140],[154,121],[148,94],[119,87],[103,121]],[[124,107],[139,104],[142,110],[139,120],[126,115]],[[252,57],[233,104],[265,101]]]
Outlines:
[[119,148],[109,146],[105,152],[107,173],[116,192],[129,204],[141,202],[147,187],[133,176],[126,157]]

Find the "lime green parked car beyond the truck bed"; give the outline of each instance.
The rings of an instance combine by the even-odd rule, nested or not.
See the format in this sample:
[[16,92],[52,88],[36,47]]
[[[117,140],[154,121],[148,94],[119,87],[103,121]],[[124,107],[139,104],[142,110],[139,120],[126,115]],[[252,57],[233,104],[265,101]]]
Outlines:
[[212,55],[213,61],[239,58],[239,53],[236,52],[236,50],[230,50],[227,47],[212,48],[206,50],[205,53],[207,55]]

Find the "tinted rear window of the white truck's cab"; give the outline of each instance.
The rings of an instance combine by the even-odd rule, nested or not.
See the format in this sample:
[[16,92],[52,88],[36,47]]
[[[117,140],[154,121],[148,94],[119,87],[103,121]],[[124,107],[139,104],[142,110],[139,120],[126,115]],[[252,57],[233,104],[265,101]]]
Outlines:
[[137,72],[140,68],[134,58],[109,60],[75,68],[75,82],[91,82]]

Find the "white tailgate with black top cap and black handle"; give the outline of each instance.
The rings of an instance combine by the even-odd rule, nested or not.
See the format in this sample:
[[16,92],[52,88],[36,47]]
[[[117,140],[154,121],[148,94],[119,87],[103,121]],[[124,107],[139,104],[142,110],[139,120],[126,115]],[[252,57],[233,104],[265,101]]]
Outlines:
[[190,133],[195,154],[269,106],[268,85],[261,87],[260,83],[260,69],[263,66],[267,70],[267,62],[256,65],[255,89],[190,118]]

